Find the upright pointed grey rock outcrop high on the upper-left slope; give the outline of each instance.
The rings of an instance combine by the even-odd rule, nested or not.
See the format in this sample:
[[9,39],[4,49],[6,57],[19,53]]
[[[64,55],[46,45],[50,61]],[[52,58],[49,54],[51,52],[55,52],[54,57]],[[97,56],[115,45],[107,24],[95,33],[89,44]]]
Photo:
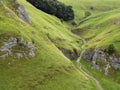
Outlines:
[[28,22],[29,24],[31,24],[31,20],[29,18],[28,13],[26,12],[25,8],[23,5],[19,5],[18,9],[16,10],[17,15],[19,18],[23,19],[24,21]]

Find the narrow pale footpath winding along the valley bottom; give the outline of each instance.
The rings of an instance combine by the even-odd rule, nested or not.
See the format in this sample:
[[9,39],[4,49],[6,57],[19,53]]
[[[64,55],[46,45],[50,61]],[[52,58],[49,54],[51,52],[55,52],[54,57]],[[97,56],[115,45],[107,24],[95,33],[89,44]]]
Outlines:
[[77,59],[77,61],[76,61],[76,62],[78,63],[78,65],[80,65],[80,66],[79,66],[79,70],[80,70],[85,76],[87,76],[88,78],[92,79],[92,80],[96,83],[96,86],[99,88],[99,90],[104,90],[104,89],[102,88],[102,86],[100,85],[99,81],[98,81],[96,78],[94,78],[93,76],[89,75],[87,72],[85,72],[85,71],[82,69],[82,64],[80,63],[80,60],[81,60],[81,58],[82,58],[82,56],[83,56],[83,54],[84,54],[84,52],[85,52],[85,45],[86,45],[86,41],[85,41],[84,39],[82,39],[82,41],[83,41],[82,52],[81,52],[80,56],[78,57],[78,59]]

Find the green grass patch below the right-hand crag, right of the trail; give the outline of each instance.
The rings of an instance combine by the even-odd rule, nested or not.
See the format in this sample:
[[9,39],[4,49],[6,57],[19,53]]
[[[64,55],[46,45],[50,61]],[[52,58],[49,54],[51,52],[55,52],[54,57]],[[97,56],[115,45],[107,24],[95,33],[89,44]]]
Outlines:
[[[105,90],[119,90],[120,89],[120,72],[118,70],[111,70],[109,76],[105,76],[103,73],[92,70],[91,63],[85,60],[81,60],[83,69],[94,76],[96,79],[99,80],[101,85]],[[101,77],[101,78],[100,78]]]

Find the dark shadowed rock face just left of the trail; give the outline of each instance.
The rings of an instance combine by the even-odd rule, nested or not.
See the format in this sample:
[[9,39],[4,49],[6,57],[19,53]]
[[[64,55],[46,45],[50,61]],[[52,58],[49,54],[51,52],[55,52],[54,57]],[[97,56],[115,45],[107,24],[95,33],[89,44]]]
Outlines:
[[64,48],[59,48],[60,51],[67,57],[69,58],[70,60],[75,60],[79,57],[79,53],[77,50],[73,50],[73,52],[69,51],[69,50],[66,50]]

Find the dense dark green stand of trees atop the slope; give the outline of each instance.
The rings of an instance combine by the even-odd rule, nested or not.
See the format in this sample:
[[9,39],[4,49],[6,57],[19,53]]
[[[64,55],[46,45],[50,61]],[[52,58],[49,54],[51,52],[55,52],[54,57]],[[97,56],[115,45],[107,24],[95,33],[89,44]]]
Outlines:
[[27,0],[33,4],[36,8],[55,15],[56,17],[65,21],[74,19],[74,11],[72,6],[66,6],[65,4],[57,0]]

